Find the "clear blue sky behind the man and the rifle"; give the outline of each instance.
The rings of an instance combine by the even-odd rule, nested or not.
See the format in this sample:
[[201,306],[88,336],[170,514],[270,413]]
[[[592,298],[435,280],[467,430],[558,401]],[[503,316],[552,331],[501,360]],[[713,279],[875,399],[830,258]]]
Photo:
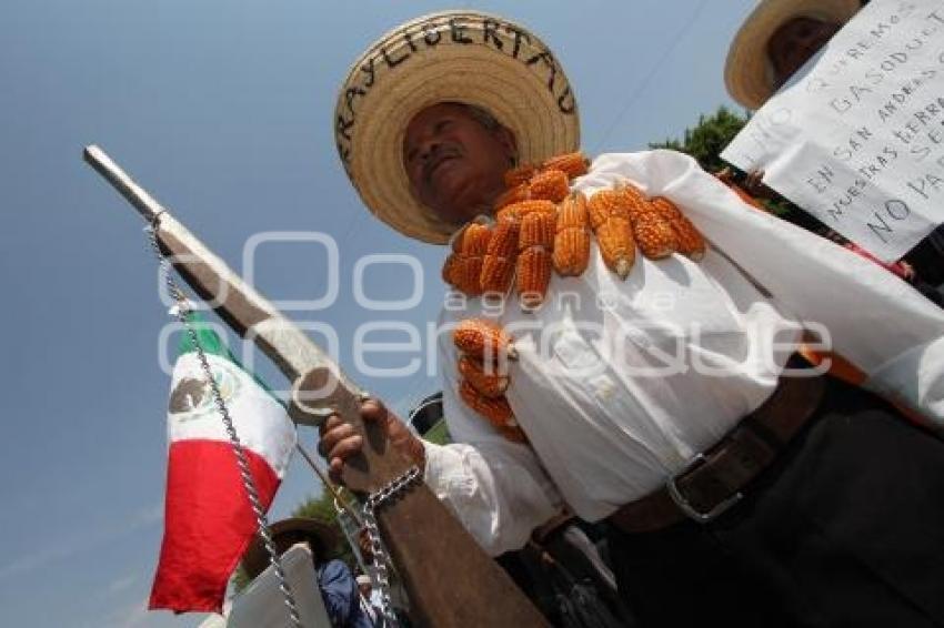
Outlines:
[[[142,224],[83,164],[84,144],[102,145],[238,270],[243,244],[259,232],[335,237],[338,301],[304,320],[337,330],[342,363],[353,371],[344,343],[373,315],[353,297],[356,260],[420,260],[421,303],[388,317],[423,324],[439,307],[444,256],[371,220],[332,148],[335,90],[369,42],[409,18],[455,6],[519,20],[565,67],[584,149],[632,151],[731,104],[724,55],[753,4],[6,0],[0,625],[200,621],[143,612],[162,531],[168,378],[158,338],[169,318]],[[257,285],[271,298],[324,292],[318,247],[260,251]],[[404,273],[402,265],[372,269],[366,294],[405,298]],[[282,384],[271,367],[262,373]],[[400,412],[436,389],[423,371],[355,377]],[[311,446],[313,434],[302,438]],[[295,460],[274,517],[318,490]]]

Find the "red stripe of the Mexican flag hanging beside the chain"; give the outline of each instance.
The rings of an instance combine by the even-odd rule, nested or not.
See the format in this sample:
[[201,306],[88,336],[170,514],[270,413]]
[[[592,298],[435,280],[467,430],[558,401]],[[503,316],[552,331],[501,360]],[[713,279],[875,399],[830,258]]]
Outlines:
[[[262,507],[279,478],[262,456],[245,449]],[[221,610],[227,581],[255,534],[229,443],[171,443],[164,503],[164,538],[149,608],[178,612]]]

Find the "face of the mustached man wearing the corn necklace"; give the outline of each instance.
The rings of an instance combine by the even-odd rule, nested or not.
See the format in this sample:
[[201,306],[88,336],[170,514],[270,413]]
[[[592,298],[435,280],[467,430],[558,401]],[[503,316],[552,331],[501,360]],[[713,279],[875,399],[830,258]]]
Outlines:
[[453,103],[434,104],[413,117],[403,141],[413,195],[453,224],[491,213],[514,154],[508,129],[488,129]]

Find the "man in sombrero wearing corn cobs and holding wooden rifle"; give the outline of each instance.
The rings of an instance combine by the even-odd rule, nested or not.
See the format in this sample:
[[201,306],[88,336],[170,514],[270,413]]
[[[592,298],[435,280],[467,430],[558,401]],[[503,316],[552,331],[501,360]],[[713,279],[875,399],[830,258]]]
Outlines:
[[[443,310],[438,364],[456,444],[421,442],[378,401],[362,415],[488,551],[568,506],[607,521],[621,595],[647,625],[944,622],[944,444],[862,387],[785,376],[805,327],[941,426],[944,313],[745,211],[679,153],[600,155],[545,200],[548,164],[579,148],[576,101],[558,58],[503,18],[450,11],[389,32],[352,67],[334,125],[374,215],[452,239],[458,267],[484,259],[471,287],[444,273],[465,293]],[[555,257],[534,301],[519,278],[540,266],[521,259],[551,247],[546,215],[555,255],[580,250],[588,215],[595,242],[583,261]],[[489,294],[514,249],[518,293]],[[515,358],[498,379],[480,336]],[[323,426],[335,475],[361,445],[339,417]]]

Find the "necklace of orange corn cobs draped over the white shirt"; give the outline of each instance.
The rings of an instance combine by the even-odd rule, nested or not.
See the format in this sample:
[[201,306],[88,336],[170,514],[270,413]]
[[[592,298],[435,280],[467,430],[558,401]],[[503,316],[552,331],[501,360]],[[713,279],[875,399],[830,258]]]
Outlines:
[[[546,297],[552,272],[580,276],[586,270],[591,233],[603,262],[621,280],[632,271],[636,247],[650,260],[673,253],[694,261],[704,256],[704,237],[664,196],[649,199],[629,181],[590,199],[571,192],[571,181],[585,174],[588,166],[583,154],[575,152],[508,171],[508,190],[495,204],[495,220],[476,219],[456,233],[443,280],[466,296],[499,298],[513,284],[522,308],[534,310]],[[462,354],[462,399],[505,437],[526,440],[504,397],[508,374],[486,367],[476,354],[479,343],[492,343],[494,352],[513,348],[512,340],[494,323],[469,318],[460,323],[454,341]]]

